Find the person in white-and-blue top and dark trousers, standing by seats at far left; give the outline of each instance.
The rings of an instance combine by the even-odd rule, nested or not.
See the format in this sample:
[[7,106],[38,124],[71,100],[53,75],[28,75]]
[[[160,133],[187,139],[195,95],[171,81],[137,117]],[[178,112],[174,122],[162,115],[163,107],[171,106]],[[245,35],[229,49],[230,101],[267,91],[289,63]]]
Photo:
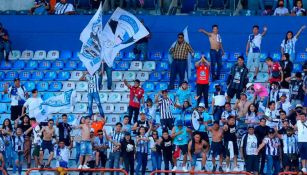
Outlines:
[[26,88],[20,84],[20,79],[14,79],[14,85],[8,88],[4,86],[4,94],[11,98],[11,120],[16,120],[22,114],[22,107],[28,97]]

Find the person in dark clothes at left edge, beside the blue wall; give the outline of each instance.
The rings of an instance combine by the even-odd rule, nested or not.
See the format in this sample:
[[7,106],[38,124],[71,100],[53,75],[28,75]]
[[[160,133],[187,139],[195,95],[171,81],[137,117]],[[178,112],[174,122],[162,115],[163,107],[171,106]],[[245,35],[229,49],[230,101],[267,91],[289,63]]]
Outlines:
[[9,33],[0,23],[0,60],[4,58],[5,51],[5,61],[9,61],[9,55],[11,52],[11,41],[9,39]]

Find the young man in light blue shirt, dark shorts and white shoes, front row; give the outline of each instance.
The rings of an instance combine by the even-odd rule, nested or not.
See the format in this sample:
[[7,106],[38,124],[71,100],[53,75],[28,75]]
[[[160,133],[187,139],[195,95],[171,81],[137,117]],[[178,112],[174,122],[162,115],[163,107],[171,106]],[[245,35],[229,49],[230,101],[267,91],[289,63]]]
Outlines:
[[[188,139],[189,139],[189,133],[192,131],[187,128],[186,126],[183,126],[182,120],[177,120],[176,126],[172,129],[172,138],[174,139],[173,143],[179,148],[183,154],[183,160],[182,160],[182,170],[184,172],[187,172],[187,154],[188,154]],[[173,157],[174,161],[174,167],[172,171],[177,170],[177,158]]]

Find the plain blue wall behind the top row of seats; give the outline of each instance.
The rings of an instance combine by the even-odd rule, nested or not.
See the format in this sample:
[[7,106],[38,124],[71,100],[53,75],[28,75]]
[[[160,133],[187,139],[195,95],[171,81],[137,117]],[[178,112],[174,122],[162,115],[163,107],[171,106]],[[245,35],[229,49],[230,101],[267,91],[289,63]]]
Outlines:
[[[10,33],[14,49],[79,50],[79,34],[91,16],[0,16]],[[197,32],[200,27],[211,30],[220,26],[226,51],[245,51],[248,34],[254,24],[268,26],[263,51],[279,51],[288,30],[294,33],[307,25],[306,17],[204,17],[204,16],[143,16],[153,35],[152,50],[167,50],[178,32],[189,26],[189,37],[195,50],[207,51],[208,39]],[[104,18],[107,21],[108,16]],[[297,51],[307,51],[307,30],[297,43]]]

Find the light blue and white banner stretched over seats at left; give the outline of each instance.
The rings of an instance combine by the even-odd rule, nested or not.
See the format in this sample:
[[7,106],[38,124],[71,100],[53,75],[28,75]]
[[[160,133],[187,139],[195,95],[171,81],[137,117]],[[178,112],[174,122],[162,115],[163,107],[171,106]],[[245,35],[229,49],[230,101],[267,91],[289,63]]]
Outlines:
[[[58,113],[62,110],[71,109],[75,104],[76,91],[69,90],[60,95],[48,98],[39,106],[39,112],[36,116],[38,122],[48,120],[48,116]],[[72,111],[71,111],[72,112]]]

